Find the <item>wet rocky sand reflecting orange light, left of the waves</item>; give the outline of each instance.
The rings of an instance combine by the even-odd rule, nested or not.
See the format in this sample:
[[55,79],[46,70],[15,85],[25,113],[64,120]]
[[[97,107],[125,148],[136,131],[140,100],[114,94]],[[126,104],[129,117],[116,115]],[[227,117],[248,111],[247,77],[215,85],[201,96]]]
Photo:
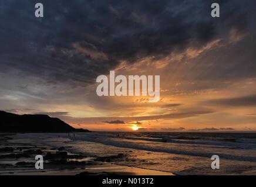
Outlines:
[[[114,164],[124,154],[88,157],[65,147],[22,142],[15,134],[0,134],[0,175],[173,175],[170,172]],[[35,168],[35,155],[43,155],[43,169]]]

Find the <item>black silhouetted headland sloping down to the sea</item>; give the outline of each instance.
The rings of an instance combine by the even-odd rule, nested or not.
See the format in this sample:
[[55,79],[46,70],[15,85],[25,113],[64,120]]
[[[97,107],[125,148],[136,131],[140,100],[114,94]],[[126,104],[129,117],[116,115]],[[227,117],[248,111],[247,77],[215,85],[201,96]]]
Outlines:
[[1,133],[68,133],[89,132],[75,129],[62,120],[48,115],[16,115],[0,111]]

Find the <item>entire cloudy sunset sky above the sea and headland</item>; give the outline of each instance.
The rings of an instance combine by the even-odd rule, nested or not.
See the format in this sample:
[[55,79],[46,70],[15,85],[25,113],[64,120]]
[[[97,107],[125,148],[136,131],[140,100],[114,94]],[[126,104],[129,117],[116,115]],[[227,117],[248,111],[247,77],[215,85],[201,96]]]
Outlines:
[[[97,131],[256,131],[256,2],[0,2],[0,109]],[[220,18],[211,4],[220,4]],[[160,75],[160,101],[96,78]]]

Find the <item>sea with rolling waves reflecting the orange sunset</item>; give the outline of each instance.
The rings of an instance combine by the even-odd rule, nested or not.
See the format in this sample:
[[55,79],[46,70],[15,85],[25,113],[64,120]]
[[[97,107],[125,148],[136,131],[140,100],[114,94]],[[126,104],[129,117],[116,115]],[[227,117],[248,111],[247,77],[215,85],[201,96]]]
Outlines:
[[[125,155],[116,165],[174,175],[256,175],[256,133],[29,133],[27,142],[67,147],[88,157]],[[219,168],[213,168],[213,155]]]

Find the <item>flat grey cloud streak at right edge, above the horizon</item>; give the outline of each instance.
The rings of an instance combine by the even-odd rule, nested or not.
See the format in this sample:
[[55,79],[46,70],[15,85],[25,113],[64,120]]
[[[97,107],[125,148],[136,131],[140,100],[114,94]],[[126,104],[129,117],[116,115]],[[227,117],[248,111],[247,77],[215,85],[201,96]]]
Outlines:
[[256,95],[247,95],[237,98],[213,99],[208,101],[213,105],[224,106],[256,106]]

